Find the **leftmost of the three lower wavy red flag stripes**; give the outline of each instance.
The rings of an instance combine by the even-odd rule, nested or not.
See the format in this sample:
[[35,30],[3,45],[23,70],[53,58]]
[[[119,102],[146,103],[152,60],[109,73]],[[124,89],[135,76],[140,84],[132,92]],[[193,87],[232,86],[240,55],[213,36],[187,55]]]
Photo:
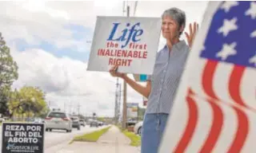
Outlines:
[[186,147],[190,143],[198,123],[198,107],[195,100],[191,96],[194,96],[194,92],[191,90],[191,88],[189,88],[188,94],[186,96],[186,103],[189,107],[189,119],[187,121],[186,129],[183,132],[182,138],[179,140],[176,148],[174,149],[174,153],[180,153],[186,150]]

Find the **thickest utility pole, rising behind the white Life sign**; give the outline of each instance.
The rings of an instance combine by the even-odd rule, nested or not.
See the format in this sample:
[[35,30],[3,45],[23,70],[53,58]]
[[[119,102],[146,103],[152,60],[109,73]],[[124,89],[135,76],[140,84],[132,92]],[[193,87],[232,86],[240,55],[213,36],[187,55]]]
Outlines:
[[[127,4],[127,10],[126,10],[126,15],[127,18],[130,17],[130,6]],[[126,128],[126,118],[127,118],[127,108],[126,108],[126,95],[127,95],[127,84],[126,81],[123,80],[123,105],[122,105],[122,129]]]

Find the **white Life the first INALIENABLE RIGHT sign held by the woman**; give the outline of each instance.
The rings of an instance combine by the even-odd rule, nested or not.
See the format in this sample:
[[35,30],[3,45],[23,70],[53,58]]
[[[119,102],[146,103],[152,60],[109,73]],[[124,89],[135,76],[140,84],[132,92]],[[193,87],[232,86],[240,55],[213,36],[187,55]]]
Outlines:
[[87,70],[152,74],[160,31],[161,18],[98,17]]

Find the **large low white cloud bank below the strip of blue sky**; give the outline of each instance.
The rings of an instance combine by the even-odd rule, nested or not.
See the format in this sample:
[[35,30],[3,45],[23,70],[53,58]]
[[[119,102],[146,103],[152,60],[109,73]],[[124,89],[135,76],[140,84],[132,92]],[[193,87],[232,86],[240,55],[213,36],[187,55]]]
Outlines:
[[[54,57],[42,49],[11,50],[19,66],[14,88],[25,84],[39,86],[47,92],[47,100],[61,108],[71,101],[74,106],[82,105],[81,112],[113,116],[116,78],[109,73],[88,72],[85,63]],[[128,101],[138,102],[138,93],[129,90],[128,95]]]

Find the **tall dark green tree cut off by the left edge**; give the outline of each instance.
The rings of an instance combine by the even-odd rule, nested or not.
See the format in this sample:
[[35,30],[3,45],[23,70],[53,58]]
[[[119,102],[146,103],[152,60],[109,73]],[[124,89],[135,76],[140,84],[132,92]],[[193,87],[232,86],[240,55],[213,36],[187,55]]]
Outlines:
[[7,115],[7,103],[10,100],[10,87],[18,79],[18,65],[10,55],[10,48],[6,45],[0,33],[0,113]]

